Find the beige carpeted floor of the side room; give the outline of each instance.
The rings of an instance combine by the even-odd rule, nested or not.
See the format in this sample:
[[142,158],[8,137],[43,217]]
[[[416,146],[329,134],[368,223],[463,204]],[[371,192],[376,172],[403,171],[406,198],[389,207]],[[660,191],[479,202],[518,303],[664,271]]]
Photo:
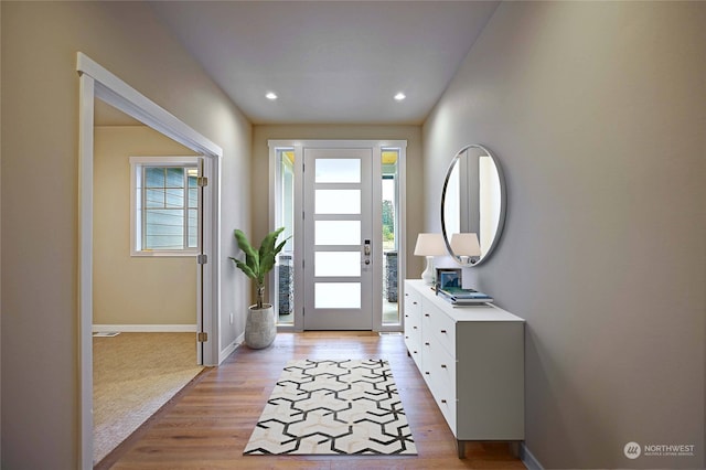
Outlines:
[[99,462],[193,380],[194,333],[94,337],[94,462]]

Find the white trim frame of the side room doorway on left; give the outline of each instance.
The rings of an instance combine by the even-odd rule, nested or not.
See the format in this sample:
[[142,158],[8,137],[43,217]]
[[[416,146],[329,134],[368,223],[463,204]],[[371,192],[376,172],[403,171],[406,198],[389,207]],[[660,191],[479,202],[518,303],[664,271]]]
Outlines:
[[122,113],[179,143],[207,157],[208,190],[203,204],[203,253],[208,263],[203,270],[203,331],[208,341],[203,363],[217,365],[220,318],[220,203],[223,150],[159,105],[122,82],[87,55],[78,52],[78,361],[81,467],[93,468],[93,140],[94,103],[98,97]]

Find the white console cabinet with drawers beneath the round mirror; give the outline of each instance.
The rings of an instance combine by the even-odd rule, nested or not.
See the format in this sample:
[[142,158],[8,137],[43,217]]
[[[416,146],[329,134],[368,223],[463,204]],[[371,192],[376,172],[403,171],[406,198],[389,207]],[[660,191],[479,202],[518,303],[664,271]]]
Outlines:
[[524,320],[405,280],[405,344],[458,442],[524,440]]

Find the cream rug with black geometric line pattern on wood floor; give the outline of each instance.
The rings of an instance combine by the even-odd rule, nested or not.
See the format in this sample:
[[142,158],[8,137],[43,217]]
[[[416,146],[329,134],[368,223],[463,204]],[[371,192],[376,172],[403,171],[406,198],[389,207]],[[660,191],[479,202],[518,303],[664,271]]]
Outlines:
[[417,455],[389,364],[289,361],[244,455]]

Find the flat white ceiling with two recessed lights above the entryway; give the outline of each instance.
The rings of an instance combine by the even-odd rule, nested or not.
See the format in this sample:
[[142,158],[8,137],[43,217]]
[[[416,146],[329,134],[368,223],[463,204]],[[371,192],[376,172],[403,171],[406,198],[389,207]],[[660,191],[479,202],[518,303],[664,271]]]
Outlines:
[[[421,124],[498,3],[150,6],[254,124]],[[406,99],[396,102],[398,92]]]

